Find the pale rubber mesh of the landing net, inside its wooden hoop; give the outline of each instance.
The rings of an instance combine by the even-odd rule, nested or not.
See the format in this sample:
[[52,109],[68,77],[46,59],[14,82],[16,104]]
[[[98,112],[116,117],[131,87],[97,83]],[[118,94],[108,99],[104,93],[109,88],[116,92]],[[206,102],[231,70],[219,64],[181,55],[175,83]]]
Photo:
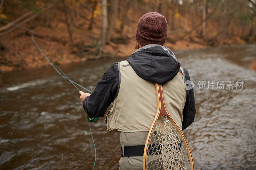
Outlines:
[[147,170],[191,169],[186,145],[169,117],[156,120],[149,138],[146,165]]

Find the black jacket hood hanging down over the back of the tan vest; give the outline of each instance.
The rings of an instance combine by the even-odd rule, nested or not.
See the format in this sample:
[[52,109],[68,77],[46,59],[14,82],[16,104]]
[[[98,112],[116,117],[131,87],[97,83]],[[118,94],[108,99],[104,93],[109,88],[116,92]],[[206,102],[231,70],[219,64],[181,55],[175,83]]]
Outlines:
[[161,46],[137,51],[126,60],[141,78],[158,84],[172,80],[180,70],[180,63]]

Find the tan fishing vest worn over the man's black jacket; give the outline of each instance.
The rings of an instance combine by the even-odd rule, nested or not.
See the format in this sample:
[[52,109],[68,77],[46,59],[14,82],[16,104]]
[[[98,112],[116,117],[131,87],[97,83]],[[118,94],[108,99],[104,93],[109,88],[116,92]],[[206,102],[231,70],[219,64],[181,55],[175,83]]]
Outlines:
[[[155,83],[140,78],[128,61],[119,65],[119,92],[114,106],[105,119],[108,131],[149,131],[156,116],[157,100]],[[180,67],[183,73],[183,69]],[[182,128],[182,110],[185,105],[183,74],[178,74],[163,85],[164,100],[175,123]]]

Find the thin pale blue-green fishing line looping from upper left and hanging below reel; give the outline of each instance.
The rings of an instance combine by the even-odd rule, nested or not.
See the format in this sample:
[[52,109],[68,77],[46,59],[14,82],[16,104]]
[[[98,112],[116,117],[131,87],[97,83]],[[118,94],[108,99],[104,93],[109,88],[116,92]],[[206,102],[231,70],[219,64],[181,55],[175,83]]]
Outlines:
[[[36,41],[35,41],[35,39],[34,39],[34,34],[35,34],[35,32],[34,32],[33,30],[30,30],[30,29],[28,29],[28,28],[25,28],[25,27],[23,27],[23,26],[20,26],[20,25],[14,24],[14,23],[10,23],[10,22],[5,21],[5,20],[3,20],[3,19],[0,19],[0,21],[2,21],[2,22],[4,22],[4,23],[7,23],[7,24],[11,24],[11,25],[16,26],[16,27],[19,27],[19,28],[21,28],[21,29],[23,29],[23,30],[26,30],[26,31],[31,32],[31,38],[32,38],[34,44],[35,44],[36,47],[40,50],[40,52],[44,55],[44,57],[48,60],[48,62],[52,65],[52,67],[57,71],[57,73],[60,74],[60,76],[62,76],[63,78],[67,79],[67,80],[76,88],[76,90],[77,90],[78,92],[79,92],[80,90],[76,87],[76,85],[79,86],[79,87],[81,87],[81,88],[83,88],[84,90],[87,90],[88,92],[92,93],[91,90],[86,89],[85,87],[81,86],[80,84],[76,83],[75,81],[70,80],[70,79],[68,78],[68,76],[66,76],[66,74],[64,74],[64,73],[60,70],[60,68],[59,68],[54,62],[52,62],[51,59],[49,59],[49,57],[44,53],[44,51],[43,51],[43,50],[40,48],[40,46],[36,43]],[[76,84],[76,85],[75,85],[75,84]],[[113,105],[113,103],[111,103],[111,104]],[[88,118],[88,120],[89,120],[89,118]],[[90,127],[91,136],[92,136],[91,122],[89,122],[89,127]],[[92,168],[92,170],[93,170],[93,169],[94,169],[94,166],[95,166],[95,163],[96,163],[96,146],[95,146],[93,137],[92,137],[92,142],[93,142],[93,146],[94,146],[94,150],[95,150],[95,159],[94,159],[94,164],[93,164],[93,168]]]

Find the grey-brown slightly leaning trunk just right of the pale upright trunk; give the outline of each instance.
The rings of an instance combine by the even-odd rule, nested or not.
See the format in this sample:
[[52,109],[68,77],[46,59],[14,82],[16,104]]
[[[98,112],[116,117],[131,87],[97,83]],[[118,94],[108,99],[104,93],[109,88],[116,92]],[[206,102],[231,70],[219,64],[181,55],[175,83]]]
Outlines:
[[112,35],[112,31],[115,27],[117,0],[111,0],[110,3],[110,21],[108,24],[108,31],[106,35],[106,42],[109,44],[111,43],[110,38]]

